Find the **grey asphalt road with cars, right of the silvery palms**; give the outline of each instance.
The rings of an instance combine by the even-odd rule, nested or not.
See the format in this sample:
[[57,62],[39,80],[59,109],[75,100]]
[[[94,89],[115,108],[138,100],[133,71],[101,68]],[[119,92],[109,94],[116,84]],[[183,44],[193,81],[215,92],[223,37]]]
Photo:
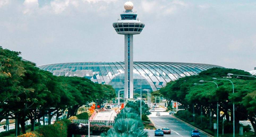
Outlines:
[[[163,127],[168,127],[172,132],[171,135],[164,136],[191,136],[190,132],[195,130],[193,127],[190,127],[186,123],[176,119],[172,115],[169,115],[168,112],[163,112],[164,109],[157,108],[155,112],[151,112],[149,115],[150,119],[155,123],[156,128],[162,129]],[[156,112],[160,112],[160,116],[156,116]],[[150,136],[154,136],[154,130],[147,130]],[[199,130],[200,131],[200,130]],[[200,131],[201,137],[206,137],[207,135]]]

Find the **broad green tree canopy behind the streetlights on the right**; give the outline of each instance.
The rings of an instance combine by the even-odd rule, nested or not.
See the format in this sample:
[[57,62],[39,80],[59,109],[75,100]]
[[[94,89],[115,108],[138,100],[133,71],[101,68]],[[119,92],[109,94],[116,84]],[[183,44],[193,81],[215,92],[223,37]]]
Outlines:
[[[187,110],[192,112],[195,106],[196,113],[200,113],[200,107],[203,108],[203,114],[207,116],[209,108],[216,114],[216,104],[219,102],[219,109],[223,112],[221,117],[226,117],[229,122],[232,122],[233,102],[235,104],[235,121],[236,131],[239,131],[239,120],[252,119],[251,123],[255,130],[255,114],[256,114],[256,79],[246,76],[235,76],[228,73],[237,75],[250,76],[249,72],[237,69],[225,68],[212,68],[200,72],[198,75],[186,76],[176,81],[171,81],[167,85],[154,94],[164,96],[169,102],[171,100],[177,101],[185,106]],[[232,83],[228,80],[215,80],[229,79],[234,84],[234,93]],[[199,82],[214,81],[213,82]],[[203,85],[194,85],[194,83]],[[160,94],[159,94],[160,93]]]

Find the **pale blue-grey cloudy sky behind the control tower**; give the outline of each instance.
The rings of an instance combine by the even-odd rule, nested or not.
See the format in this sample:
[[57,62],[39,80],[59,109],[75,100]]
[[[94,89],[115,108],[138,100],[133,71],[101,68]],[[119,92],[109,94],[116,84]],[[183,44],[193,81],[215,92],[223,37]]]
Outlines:
[[[112,23],[127,0],[0,0],[0,46],[37,65],[124,61]],[[134,61],[256,67],[256,1],[131,0]]]

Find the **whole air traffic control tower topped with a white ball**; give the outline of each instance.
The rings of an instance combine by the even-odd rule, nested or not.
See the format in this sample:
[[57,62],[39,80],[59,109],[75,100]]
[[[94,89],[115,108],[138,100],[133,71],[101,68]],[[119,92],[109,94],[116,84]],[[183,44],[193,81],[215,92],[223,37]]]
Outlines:
[[[140,34],[145,24],[137,19],[137,13],[133,10],[133,3],[130,1],[124,4],[125,11],[120,14],[121,20],[113,23],[117,34],[125,35],[125,99],[133,98],[133,35]],[[128,89],[130,93],[128,94]]]

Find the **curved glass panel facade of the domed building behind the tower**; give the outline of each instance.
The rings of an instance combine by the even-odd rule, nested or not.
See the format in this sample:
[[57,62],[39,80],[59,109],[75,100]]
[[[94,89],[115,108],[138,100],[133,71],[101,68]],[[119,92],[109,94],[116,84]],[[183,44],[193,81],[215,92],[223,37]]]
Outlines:
[[[109,84],[118,91],[123,89],[124,66],[124,62],[79,62],[49,64],[38,67],[52,72],[56,76],[79,76],[90,79],[95,83]],[[184,76],[197,75],[199,72],[213,67],[221,66],[202,63],[134,62],[134,69],[130,72],[133,72],[134,89],[140,88],[141,84],[143,89],[156,91],[164,87],[167,82]],[[140,81],[141,79],[142,81]],[[137,93],[136,91],[135,93]]]

